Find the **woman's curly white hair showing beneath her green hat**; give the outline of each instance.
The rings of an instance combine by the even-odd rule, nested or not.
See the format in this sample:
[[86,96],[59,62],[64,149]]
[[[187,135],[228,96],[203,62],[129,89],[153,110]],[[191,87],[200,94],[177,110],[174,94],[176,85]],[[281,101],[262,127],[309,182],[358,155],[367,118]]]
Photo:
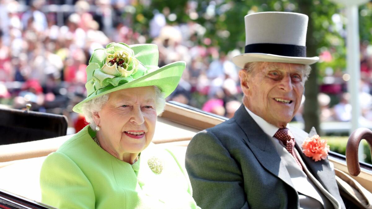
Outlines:
[[[164,111],[165,106],[164,93],[161,92],[157,86],[154,86],[154,89],[156,114],[160,115]],[[94,98],[84,103],[83,107],[81,108],[85,116],[85,120],[89,123],[90,128],[92,128],[93,131],[95,131],[97,127],[96,122],[94,122],[93,115],[99,112],[99,110],[102,109],[103,105],[108,102],[108,100],[109,94],[103,94],[100,97]]]

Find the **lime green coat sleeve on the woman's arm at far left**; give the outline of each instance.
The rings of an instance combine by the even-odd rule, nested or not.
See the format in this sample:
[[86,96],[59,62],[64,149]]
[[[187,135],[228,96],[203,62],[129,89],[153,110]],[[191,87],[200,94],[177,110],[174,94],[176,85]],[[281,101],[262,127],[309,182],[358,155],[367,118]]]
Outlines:
[[40,172],[42,202],[55,208],[94,208],[93,187],[66,155],[53,152]]

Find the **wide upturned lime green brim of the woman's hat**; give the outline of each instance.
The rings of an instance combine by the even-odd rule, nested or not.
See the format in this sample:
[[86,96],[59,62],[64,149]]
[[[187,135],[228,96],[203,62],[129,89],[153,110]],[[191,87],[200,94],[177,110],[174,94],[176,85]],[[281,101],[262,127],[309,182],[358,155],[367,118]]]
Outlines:
[[112,85],[107,86],[91,94],[89,97],[75,105],[73,107],[73,111],[77,113],[83,113],[82,112],[83,104],[88,102],[89,100],[92,100],[104,94],[111,93],[113,91],[135,87],[157,86],[160,89],[160,91],[164,93],[165,98],[176,89],[178,83],[180,82],[183,70],[185,70],[185,67],[186,62],[184,61],[173,62],[151,73],[143,75],[131,82],[121,84],[117,87]]

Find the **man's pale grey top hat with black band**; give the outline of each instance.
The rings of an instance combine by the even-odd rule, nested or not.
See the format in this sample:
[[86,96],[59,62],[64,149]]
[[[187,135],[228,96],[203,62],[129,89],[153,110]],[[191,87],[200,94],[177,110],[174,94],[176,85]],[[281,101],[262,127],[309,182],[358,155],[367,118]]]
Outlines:
[[314,64],[306,57],[308,16],[292,12],[259,12],[246,15],[246,48],[232,58],[240,68],[247,62]]

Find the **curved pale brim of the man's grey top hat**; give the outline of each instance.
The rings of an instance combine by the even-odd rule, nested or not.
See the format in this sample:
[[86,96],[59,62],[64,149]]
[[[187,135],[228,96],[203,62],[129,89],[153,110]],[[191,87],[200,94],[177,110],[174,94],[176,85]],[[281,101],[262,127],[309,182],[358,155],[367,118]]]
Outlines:
[[242,69],[247,62],[284,62],[311,65],[317,61],[319,61],[319,57],[287,57],[265,53],[245,53],[232,58],[232,62]]

